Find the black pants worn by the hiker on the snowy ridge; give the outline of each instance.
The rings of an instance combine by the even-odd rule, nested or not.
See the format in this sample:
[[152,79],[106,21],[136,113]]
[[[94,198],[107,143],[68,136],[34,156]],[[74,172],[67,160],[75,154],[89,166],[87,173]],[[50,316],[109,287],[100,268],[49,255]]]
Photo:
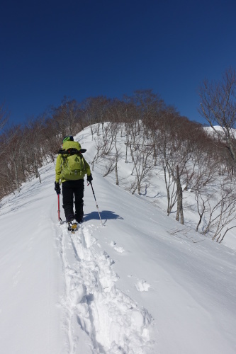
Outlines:
[[[84,180],[65,181],[62,183],[62,202],[64,207],[64,215],[67,222],[76,219],[77,222],[82,222],[84,216]],[[75,212],[73,209],[73,202]]]

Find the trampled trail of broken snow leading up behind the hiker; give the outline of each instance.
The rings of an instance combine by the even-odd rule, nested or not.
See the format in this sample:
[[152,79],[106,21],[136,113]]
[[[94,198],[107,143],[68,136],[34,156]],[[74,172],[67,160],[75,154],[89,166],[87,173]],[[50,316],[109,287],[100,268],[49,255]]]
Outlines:
[[92,226],[82,224],[74,234],[60,226],[60,253],[64,266],[64,329],[69,354],[151,353],[152,317],[116,287],[113,260],[92,236]]

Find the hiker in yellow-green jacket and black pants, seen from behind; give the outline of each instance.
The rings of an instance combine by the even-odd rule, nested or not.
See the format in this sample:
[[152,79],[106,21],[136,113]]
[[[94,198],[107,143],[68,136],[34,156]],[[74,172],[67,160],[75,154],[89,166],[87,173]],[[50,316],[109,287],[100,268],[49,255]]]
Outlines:
[[[66,217],[68,229],[75,222],[83,221],[84,217],[84,176],[87,175],[87,181],[91,182],[89,164],[85,161],[79,142],[74,142],[74,138],[64,137],[62,150],[60,150],[56,161],[55,191],[60,194],[60,181],[62,183],[62,203],[64,215]],[[75,212],[73,209],[73,201]]]

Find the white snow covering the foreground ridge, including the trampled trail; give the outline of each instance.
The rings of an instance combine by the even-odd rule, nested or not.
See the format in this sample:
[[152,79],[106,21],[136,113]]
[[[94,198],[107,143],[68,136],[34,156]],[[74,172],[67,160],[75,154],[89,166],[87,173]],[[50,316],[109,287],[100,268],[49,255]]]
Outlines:
[[[89,130],[77,138],[91,162]],[[120,176],[129,169],[121,164]],[[131,195],[96,166],[103,226],[85,186],[85,221],[70,234],[57,221],[55,164],[40,173],[41,184],[32,179],[1,202],[1,353],[236,353],[230,232],[223,244],[186,232],[162,198],[152,201],[164,194],[161,179]]]

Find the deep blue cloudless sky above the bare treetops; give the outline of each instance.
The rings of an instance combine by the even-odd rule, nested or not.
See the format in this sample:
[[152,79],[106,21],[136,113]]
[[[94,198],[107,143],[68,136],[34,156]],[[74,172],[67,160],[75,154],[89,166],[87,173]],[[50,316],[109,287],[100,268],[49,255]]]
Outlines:
[[11,122],[67,96],[153,89],[203,122],[198,86],[236,68],[235,0],[3,0],[0,103]]

